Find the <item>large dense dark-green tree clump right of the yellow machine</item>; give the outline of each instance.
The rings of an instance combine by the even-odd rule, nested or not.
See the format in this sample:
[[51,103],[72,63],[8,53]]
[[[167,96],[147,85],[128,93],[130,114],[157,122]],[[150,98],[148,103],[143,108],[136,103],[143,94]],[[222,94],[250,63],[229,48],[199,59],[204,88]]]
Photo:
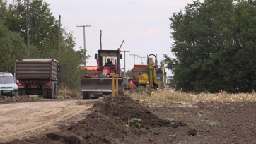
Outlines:
[[256,90],[256,1],[193,1],[169,20],[175,58],[165,55],[165,64],[173,88]]

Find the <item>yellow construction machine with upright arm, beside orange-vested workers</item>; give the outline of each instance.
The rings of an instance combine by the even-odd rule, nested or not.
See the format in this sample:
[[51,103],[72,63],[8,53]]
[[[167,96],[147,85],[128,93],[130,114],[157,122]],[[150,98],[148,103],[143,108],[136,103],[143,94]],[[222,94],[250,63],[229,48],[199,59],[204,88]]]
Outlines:
[[[165,67],[162,65],[153,64],[153,57],[156,58],[154,54],[148,56],[148,64],[134,64],[132,69],[134,84],[136,86],[146,86],[147,82],[152,88],[164,88],[165,83]],[[159,69],[159,70],[158,70]],[[160,73],[157,72],[161,71]]]

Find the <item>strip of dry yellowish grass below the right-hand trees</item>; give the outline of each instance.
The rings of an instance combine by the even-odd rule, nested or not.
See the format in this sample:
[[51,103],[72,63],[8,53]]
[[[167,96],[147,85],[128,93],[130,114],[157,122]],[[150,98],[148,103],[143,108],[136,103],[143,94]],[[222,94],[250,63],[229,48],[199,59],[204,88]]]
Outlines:
[[165,103],[165,102],[256,102],[255,91],[252,93],[229,94],[220,91],[219,93],[199,93],[192,92],[174,92],[173,90],[154,90],[141,92],[126,90],[124,94],[132,97],[133,100],[146,100],[147,103]]

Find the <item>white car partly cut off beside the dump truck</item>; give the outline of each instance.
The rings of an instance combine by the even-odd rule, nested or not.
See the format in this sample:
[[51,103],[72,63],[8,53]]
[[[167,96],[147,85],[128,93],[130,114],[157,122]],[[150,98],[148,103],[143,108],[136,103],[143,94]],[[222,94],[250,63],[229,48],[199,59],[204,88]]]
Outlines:
[[11,73],[0,72],[0,95],[18,95],[18,85]]

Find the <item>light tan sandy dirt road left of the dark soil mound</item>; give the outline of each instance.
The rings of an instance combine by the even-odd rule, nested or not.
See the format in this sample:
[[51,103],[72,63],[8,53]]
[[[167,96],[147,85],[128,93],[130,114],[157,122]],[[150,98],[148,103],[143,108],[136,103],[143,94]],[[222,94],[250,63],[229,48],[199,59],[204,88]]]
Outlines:
[[98,100],[66,100],[0,104],[0,142],[60,131],[61,124],[84,119]]

